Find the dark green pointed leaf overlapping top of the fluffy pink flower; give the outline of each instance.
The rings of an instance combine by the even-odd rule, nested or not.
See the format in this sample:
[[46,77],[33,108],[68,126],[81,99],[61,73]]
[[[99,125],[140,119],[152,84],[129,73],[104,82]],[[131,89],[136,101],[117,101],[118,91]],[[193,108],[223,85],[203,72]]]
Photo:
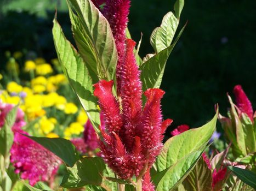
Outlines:
[[44,148],[47,148],[47,150],[54,153],[69,166],[73,166],[79,159],[76,147],[72,145],[70,140],[62,138],[37,138],[36,136],[27,136],[27,138],[30,138]]

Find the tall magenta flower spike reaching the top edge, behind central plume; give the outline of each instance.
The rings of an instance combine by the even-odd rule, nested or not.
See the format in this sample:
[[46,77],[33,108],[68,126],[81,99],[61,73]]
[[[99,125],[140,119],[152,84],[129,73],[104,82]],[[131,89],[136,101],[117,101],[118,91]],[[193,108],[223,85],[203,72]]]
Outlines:
[[126,50],[126,28],[128,23],[128,14],[130,0],[106,0],[103,14],[110,23],[113,37],[115,38],[118,52],[118,62],[116,67],[117,93],[120,94],[122,73],[122,63]]

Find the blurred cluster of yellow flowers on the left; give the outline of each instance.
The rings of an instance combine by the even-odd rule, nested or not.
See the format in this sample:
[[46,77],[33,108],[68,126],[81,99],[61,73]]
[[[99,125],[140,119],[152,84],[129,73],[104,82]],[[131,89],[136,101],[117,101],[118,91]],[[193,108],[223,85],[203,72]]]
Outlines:
[[[15,55],[19,55],[19,59],[15,60]],[[12,62],[17,64],[12,70],[15,70],[18,79],[15,80],[14,77],[10,81],[8,76],[4,76],[1,80],[3,86],[0,88],[5,87],[0,91],[2,102],[19,104],[28,122],[38,120],[34,125],[33,135],[49,138],[61,136],[65,139],[82,135],[88,117],[75,104],[75,97],[63,96],[69,95],[67,92],[71,88],[65,75],[59,72],[61,68],[58,59],[53,59],[52,64],[49,64],[43,58],[24,62],[21,58],[22,53],[15,53],[9,58],[9,69],[12,68]],[[8,64],[7,72],[11,73]]]

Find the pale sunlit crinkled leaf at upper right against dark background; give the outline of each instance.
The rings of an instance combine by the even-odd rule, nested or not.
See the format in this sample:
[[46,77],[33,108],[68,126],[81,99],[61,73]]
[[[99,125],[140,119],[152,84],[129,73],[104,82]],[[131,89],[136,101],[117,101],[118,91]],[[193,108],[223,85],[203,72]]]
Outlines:
[[163,17],[161,26],[155,28],[150,37],[150,44],[156,53],[170,46],[178,25],[179,20],[172,12],[168,12]]

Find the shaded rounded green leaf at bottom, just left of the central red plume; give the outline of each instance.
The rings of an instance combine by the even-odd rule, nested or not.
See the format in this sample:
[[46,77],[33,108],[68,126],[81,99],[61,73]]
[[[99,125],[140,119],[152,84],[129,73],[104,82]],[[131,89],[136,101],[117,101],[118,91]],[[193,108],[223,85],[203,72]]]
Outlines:
[[105,169],[106,165],[100,157],[82,158],[72,168],[67,168],[68,173],[64,176],[61,186],[64,188],[79,188],[87,184],[100,186]]

